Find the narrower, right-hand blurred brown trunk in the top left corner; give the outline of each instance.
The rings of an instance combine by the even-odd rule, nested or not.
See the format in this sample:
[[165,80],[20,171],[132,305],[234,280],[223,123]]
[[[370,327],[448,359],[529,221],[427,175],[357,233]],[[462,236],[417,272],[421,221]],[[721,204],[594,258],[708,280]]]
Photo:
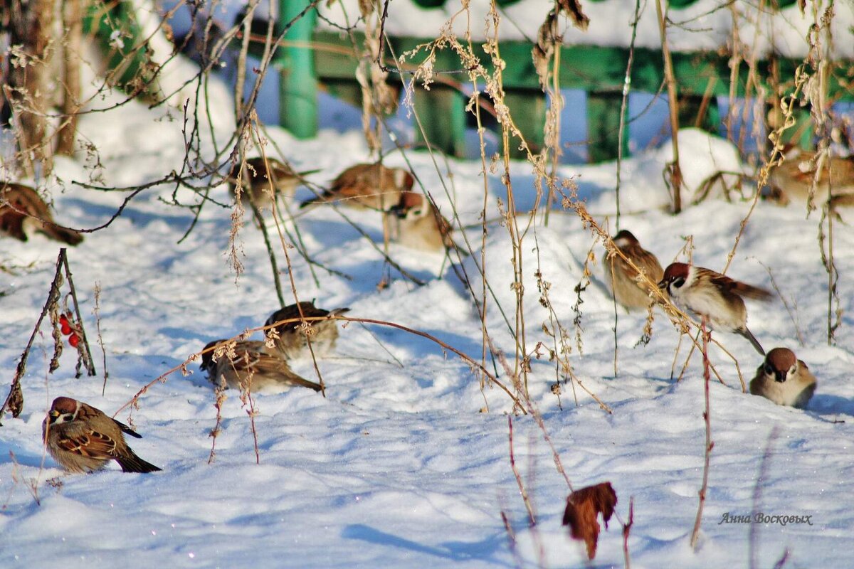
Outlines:
[[64,43],[65,91],[62,97],[62,113],[65,122],[61,125],[56,141],[56,154],[73,156],[74,136],[77,132],[77,111],[80,100],[80,49],[83,42],[84,0],[66,0],[63,3],[63,19],[67,26]]

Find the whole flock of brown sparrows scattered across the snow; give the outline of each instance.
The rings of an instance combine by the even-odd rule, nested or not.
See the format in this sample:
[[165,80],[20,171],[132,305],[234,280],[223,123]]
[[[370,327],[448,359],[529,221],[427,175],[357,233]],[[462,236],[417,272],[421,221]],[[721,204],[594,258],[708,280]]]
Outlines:
[[[805,165],[805,166],[804,166]],[[810,167],[812,170],[810,171]],[[304,176],[313,172],[295,172],[290,166],[271,158],[250,158],[239,175],[230,175],[237,195],[244,204],[261,208],[271,206],[278,195],[293,200]],[[834,182],[834,199],[839,178],[847,180],[839,192],[838,205],[854,205],[854,163],[850,159],[831,159],[828,175],[818,178],[815,154],[800,154],[771,172],[772,197],[787,203],[807,200],[819,202],[830,193],[828,176]],[[381,164],[358,164],[341,172],[316,197],[301,207],[334,202],[340,205],[383,212],[389,220],[383,224],[390,242],[424,251],[442,251],[453,247],[452,226],[430,200],[412,191],[412,173]],[[810,190],[810,188],[812,188]],[[271,191],[272,190],[272,191]],[[851,203],[849,203],[851,200]],[[833,202],[834,200],[831,200]],[[21,241],[38,231],[50,239],[69,245],[83,241],[83,235],[56,224],[50,208],[35,189],[20,183],[0,187],[0,233]],[[662,269],[652,253],[640,247],[629,231],[620,231],[614,245],[643,271],[651,282],[658,282],[676,305],[699,316],[711,329],[744,336],[763,355],[764,361],[750,383],[753,394],[769,398],[775,404],[804,408],[816,390],[816,378],[793,351],[778,347],[767,354],[747,328],[744,299],[767,300],[770,293],[759,287],[724,276],[716,271],[684,263]],[[628,310],[646,310],[652,293],[648,282],[623,258],[613,255],[605,262],[605,281],[617,303]],[[320,391],[318,383],[300,377],[290,369],[289,360],[309,354],[322,356],[336,342],[335,317],[348,311],[326,311],[312,302],[301,302],[275,311],[265,326],[271,328],[268,341],[214,340],[202,351],[201,368],[219,388],[242,391],[266,391],[283,386],[302,386]],[[306,322],[311,322],[310,328]],[[50,456],[72,473],[91,473],[116,461],[124,472],[148,473],[159,467],[139,458],[125,441],[125,434],[139,438],[120,421],[89,404],[73,398],[56,398],[42,424],[44,443]]]

